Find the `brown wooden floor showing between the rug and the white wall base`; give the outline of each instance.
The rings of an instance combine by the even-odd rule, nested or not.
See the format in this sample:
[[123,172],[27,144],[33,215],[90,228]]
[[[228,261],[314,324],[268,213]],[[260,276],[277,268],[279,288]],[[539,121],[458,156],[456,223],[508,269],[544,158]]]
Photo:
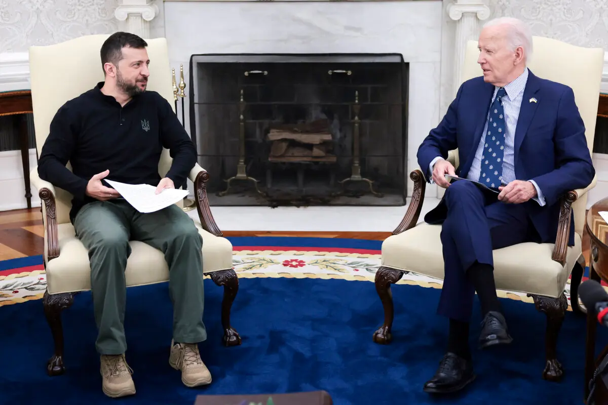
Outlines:
[[[390,232],[269,232],[223,231],[224,236],[300,236],[384,240]],[[583,254],[589,263],[589,236],[584,233]],[[40,208],[0,212],[0,260],[43,254],[44,229]]]

